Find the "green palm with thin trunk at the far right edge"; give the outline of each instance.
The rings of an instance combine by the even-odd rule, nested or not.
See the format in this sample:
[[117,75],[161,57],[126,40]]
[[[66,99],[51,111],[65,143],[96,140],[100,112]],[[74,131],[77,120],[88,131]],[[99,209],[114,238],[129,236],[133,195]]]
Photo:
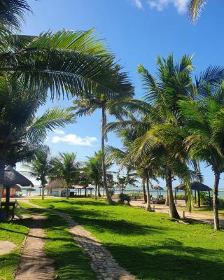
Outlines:
[[204,160],[214,172],[214,228],[219,230],[218,184],[224,170],[224,83],[215,90],[205,87],[207,97],[204,99],[180,102],[181,114],[188,120],[188,134],[183,144],[192,158]]

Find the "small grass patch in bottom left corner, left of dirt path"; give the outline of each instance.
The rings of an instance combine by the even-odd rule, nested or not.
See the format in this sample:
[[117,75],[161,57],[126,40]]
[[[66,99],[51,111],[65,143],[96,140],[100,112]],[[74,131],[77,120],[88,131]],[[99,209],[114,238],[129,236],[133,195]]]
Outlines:
[[0,255],[0,280],[14,279],[13,275],[20,262],[22,242],[28,232],[28,220],[1,222],[0,241],[12,241],[17,245],[15,250],[8,254]]

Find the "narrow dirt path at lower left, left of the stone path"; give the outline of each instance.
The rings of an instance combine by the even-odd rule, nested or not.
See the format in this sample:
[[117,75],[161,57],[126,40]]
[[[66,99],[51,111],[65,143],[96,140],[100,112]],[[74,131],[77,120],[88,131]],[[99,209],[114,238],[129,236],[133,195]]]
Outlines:
[[42,228],[44,216],[32,214],[33,220],[22,250],[22,258],[15,280],[52,280],[54,268],[52,261],[45,257]]

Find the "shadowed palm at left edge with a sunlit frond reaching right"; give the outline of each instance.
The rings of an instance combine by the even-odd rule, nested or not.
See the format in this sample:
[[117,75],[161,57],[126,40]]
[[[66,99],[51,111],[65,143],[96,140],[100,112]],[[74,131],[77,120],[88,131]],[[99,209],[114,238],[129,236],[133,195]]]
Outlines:
[[15,166],[19,161],[29,160],[43,145],[48,130],[72,123],[73,114],[68,109],[55,107],[45,111],[43,116],[36,117],[36,112],[44,101],[39,92],[22,88],[20,80],[10,80],[9,83],[7,76],[0,80],[2,172],[5,165]]

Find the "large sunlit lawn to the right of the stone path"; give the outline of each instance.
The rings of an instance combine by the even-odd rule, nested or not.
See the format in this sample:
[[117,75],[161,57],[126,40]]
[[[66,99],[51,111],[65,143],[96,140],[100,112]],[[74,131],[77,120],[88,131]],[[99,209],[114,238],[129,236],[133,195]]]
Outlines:
[[224,279],[224,231],[184,225],[165,214],[104,200],[32,200],[64,211],[99,238],[120,265],[139,279]]

